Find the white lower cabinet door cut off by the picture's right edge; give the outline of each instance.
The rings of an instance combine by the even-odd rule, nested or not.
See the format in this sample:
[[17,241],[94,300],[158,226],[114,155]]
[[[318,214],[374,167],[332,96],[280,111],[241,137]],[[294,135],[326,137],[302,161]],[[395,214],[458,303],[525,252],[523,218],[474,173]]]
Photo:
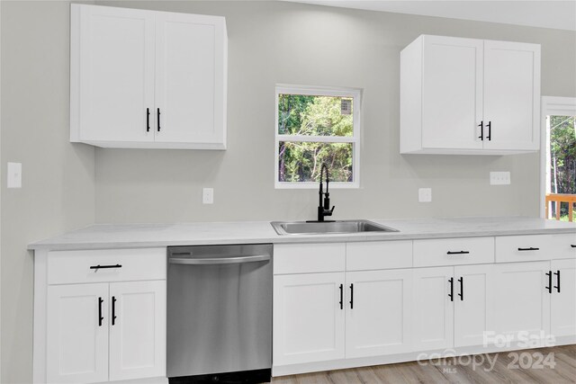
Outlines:
[[576,260],[552,261],[551,333],[576,335]]

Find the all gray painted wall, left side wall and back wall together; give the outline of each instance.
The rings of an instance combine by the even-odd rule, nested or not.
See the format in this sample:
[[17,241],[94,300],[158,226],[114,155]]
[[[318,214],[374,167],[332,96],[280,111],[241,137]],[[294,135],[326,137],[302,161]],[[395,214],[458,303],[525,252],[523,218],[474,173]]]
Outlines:
[[[538,214],[537,154],[399,155],[399,53],[421,33],[536,42],[543,94],[576,96],[574,32],[272,2],[113,5],[226,16],[229,149],[68,143],[68,4],[2,2],[1,165],[22,161],[24,174],[22,190],[2,176],[2,382],[31,381],[27,243],[94,220],[313,217],[314,191],[274,189],[276,83],[364,89],[362,188],[331,193],[337,219]],[[490,187],[491,170],[510,171],[512,184]],[[203,186],[214,205],[202,205]],[[418,202],[423,186],[432,203]]]

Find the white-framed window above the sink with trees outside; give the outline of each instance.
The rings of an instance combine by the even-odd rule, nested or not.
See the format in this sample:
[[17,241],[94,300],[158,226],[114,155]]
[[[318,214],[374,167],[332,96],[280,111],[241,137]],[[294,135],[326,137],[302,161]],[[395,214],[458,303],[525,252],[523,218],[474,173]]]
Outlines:
[[358,188],[360,91],[276,86],[275,187],[318,188],[322,163],[330,187]]

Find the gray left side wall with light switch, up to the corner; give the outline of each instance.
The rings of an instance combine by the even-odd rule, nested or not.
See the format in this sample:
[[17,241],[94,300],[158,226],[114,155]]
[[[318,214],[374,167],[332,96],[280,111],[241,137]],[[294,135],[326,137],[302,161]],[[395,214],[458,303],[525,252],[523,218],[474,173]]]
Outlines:
[[[94,148],[67,141],[69,4],[0,6],[0,381],[31,382],[33,268],[26,245],[94,222]],[[22,189],[6,189],[7,161],[23,163]]]

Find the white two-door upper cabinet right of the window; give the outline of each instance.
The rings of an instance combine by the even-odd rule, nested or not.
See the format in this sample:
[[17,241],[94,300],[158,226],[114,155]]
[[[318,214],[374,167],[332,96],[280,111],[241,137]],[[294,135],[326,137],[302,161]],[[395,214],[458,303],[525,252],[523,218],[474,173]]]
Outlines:
[[401,52],[401,153],[539,147],[540,46],[422,35]]

